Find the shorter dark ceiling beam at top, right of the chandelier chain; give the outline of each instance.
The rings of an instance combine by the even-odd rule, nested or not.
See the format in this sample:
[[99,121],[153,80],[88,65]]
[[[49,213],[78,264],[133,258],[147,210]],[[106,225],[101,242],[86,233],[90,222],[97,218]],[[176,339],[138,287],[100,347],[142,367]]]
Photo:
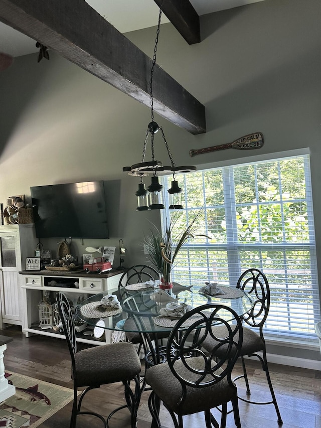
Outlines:
[[200,43],[200,17],[189,0],[154,0],[189,45]]

